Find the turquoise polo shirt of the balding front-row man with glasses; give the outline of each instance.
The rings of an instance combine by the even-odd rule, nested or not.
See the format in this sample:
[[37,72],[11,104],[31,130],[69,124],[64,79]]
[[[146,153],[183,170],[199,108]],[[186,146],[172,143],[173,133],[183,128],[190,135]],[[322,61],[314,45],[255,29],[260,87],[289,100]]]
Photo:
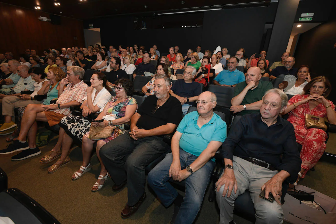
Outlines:
[[[197,125],[198,112],[193,111],[184,116],[176,131],[182,133],[180,148],[193,155],[199,156],[210,141],[224,142],[226,138],[226,124],[215,113],[211,120],[201,128]],[[215,158],[211,159],[215,161]]]

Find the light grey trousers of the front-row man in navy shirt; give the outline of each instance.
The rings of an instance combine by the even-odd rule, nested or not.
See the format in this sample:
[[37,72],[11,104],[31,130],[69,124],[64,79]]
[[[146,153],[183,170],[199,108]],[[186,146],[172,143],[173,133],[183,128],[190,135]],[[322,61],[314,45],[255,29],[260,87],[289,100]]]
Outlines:
[[216,191],[216,199],[220,208],[219,223],[229,224],[233,220],[235,200],[240,194],[248,190],[255,208],[255,223],[281,224],[284,215],[281,206],[276,201],[271,203],[259,197],[261,186],[276,175],[278,171],[271,171],[237,156],[233,158],[233,169],[238,183],[237,193],[232,190],[230,197],[226,195],[223,197],[224,185],[219,189],[219,192]]

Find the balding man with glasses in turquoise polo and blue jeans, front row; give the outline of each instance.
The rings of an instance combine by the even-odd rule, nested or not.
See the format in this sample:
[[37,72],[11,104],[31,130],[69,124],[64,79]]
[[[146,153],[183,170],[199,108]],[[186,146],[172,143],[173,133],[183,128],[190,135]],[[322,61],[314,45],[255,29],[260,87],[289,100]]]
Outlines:
[[[197,111],[185,115],[172,137],[172,152],[148,174],[148,184],[162,204],[174,203],[171,223],[193,223],[201,208],[215,166],[213,157],[226,138],[225,122],[213,113],[216,100],[208,91],[198,96]],[[185,180],[184,198],[170,179]]]

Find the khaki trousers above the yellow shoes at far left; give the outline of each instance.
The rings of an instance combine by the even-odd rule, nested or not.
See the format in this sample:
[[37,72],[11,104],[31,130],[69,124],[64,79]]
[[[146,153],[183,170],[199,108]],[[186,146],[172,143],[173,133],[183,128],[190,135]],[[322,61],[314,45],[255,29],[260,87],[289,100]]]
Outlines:
[[15,116],[14,108],[27,106],[28,104],[39,104],[38,100],[21,100],[18,96],[6,96],[2,98],[2,115]]

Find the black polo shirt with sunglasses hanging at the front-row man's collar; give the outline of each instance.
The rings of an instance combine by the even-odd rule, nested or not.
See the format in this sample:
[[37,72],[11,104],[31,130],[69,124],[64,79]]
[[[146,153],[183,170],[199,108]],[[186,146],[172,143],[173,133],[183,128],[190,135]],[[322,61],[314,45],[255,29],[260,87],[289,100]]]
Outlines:
[[143,101],[136,111],[141,115],[136,125],[146,130],[157,128],[168,123],[178,126],[182,120],[181,102],[169,94],[167,101],[160,106],[153,115],[152,111],[155,110],[157,100],[158,98],[156,98],[155,95],[150,95]]

